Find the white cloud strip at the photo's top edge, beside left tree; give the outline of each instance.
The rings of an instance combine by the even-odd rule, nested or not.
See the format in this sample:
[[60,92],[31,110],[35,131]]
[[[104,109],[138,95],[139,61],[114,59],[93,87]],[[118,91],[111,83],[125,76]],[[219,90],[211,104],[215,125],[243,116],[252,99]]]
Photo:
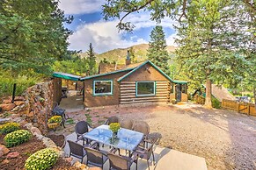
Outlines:
[[101,11],[103,0],[60,0],[59,8],[65,14],[85,14]]

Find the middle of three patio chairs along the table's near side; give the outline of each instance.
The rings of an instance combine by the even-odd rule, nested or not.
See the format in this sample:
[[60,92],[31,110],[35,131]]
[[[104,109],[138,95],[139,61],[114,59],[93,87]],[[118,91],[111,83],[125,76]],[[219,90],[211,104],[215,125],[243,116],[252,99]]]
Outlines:
[[87,153],[86,165],[99,166],[103,169],[106,163],[107,155],[104,151],[99,151],[99,144],[95,143],[92,147],[84,147]]

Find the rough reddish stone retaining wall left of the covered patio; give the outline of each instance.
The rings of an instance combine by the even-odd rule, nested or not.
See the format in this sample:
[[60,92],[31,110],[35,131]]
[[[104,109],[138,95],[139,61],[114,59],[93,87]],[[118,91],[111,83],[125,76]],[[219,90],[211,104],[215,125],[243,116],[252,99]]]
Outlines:
[[51,117],[54,97],[53,81],[41,82],[26,89],[22,96],[16,96],[11,103],[11,97],[0,104],[2,113],[17,114],[24,117],[27,122],[40,129],[42,134],[48,132],[48,118]]

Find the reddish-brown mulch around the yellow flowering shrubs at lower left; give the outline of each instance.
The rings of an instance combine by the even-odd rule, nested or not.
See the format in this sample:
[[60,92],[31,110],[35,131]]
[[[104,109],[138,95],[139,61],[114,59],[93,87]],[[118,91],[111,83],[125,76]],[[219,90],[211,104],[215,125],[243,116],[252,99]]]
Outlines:
[[[0,144],[4,145],[4,136],[0,135]],[[62,135],[56,136],[51,135],[48,138],[53,139],[54,142],[56,142],[56,145],[62,147],[64,143],[64,137]],[[2,161],[6,159],[6,155],[4,155],[2,158],[0,158],[0,169],[1,170],[20,170],[25,169],[25,162],[26,159],[33,154],[34,152],[39,151],[40,149],[46,148],[43,143],[37,139],[36,137],[31,138],[28,142],[23,143],[21,145],[17,145],[14,147],[9,148],[10,152],[18,152],[19,156],[17,158],[8,159],[8,163],[3,163]],[[70,163],[62,158],[59,158],[52,169],[55,170],[77,170],[77,167],[70,166]]]

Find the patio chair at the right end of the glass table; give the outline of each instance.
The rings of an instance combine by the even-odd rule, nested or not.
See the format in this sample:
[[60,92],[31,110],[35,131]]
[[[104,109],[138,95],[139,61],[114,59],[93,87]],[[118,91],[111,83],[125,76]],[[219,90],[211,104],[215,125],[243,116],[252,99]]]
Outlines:
[[156,140],[154,140],[150,144],[150,147],[148,147],[148,148],[138,146],[135,150],[135,153],[138,154],[139,158],[147,160],[149,170],[150,170],[150,157],[151,157],[151,155],[153,156],[153,165],[154,166],[156,165],[156,160],[155,160],[155,156],[154,156],[154,152],[153,152],[153,147],[154,147],[155,143],[156,143]]

